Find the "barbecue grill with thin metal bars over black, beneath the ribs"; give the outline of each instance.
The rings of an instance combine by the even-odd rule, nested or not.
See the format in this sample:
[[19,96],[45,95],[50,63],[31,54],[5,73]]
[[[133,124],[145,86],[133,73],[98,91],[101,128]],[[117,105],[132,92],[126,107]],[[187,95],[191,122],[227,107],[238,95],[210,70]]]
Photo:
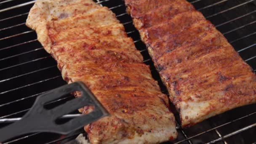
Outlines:
[[[139,32],[133,27],[131,17],[125,11],[122,0],[95,0],[109,7],[125,26],[136,48],[141,51],[144,63],[150,66],[163,93],[166,88],[151,61]],[[256,0],[189,0],[203,13],[229,43],[256,71]],[[56,62],[43,50],[34,31],[25,21],[31,0],[0,0],[0,119],[22,117],[36,97],[53,88],[66,84],[61,78]],[[53,104],[74,99],[67,96]],[[179,114],[173,109],[177,120],[178,138],[166,144],[252,144],[256,141],[256,104],[236,108],[209,118],[191,128],[181,128]],[[76,114],[78,112],[73,112]],[[0,128],[10,123],[0,123]],[[9,143],[64,144],[75,139],[83,129],[69,135],[55,133],[31,133],[19,136]]]

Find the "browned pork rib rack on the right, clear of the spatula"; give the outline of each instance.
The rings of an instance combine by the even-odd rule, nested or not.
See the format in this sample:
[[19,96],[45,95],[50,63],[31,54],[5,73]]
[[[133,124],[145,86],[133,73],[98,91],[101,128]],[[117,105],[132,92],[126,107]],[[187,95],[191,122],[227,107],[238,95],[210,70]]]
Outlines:
[[186,0],[125,0],[183,127],[256,101],[256,76]]

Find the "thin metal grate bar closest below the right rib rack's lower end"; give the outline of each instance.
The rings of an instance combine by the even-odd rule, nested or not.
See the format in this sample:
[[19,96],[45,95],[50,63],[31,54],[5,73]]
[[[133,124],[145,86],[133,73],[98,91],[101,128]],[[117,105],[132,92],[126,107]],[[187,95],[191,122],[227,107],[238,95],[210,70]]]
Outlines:
[[225,125],[229,125],[229,124],[234,123],[234,122],[236,122],[236,121],[238,121],[238,120],[242,120],[242,119],[244,119],[244,118],[246,118],[246,117],[249,117],[249,116],[255,115],[255,114],[256,114],[256,112],[253,112],[253,113],[251,113],[251,114],[249,114],[249,115],[245,115],[245,116],[243,116],[243,117],[240,117],[240,118],[237,118],[237,119],[235,119],[235,120],[229,121],[229,122],[227,122],[227,123],[224,123],[224,124],[222,124],[222,125],[216,126],[216,127],[211,128],[211,129],[209,129],[209,130],[207,130],[207,131],[204,131],[204,132],[202,132],[202,133],[198,133],[198,134],[196,134],[196,135],[194,135],[194,136],[190,136],[189,138],[183,139],[183,140],[181,140],[181,141],[179,141],[179,142],[177,142],[177,143],[175,143],[175,144],[180,144],[181,142],[184,142],[184,141],[187,141],[187,140],[189,140],[189,139],[195,138],[195,137],[197,137],[197,136],[200,136],[200,135],[202,135],[202,134],[205,134],[205,133],[208,133],[208,132],[210,132],[210,131],[216,130],[217,128],[221,128],[221,127],[223,127],[223,126],[225,126]]

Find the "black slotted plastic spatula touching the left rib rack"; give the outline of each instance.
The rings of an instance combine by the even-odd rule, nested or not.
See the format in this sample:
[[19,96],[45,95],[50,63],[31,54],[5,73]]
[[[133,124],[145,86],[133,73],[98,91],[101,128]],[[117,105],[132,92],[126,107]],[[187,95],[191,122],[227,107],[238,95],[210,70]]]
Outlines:
[[[81,96],[52,109],[45,109],[44,105],[48,102],[74,91],[80,91]],[[94,109],[92,112],[75,117],[67,123],[57,124],[55,122],[61,116],[84,106],[93,106]],[[68,134],[107,115],[109,114],[106,109],[82,82],[71,83],[38,96],[32,108],[21,120],[0,129],[0,142],[32,132]]]

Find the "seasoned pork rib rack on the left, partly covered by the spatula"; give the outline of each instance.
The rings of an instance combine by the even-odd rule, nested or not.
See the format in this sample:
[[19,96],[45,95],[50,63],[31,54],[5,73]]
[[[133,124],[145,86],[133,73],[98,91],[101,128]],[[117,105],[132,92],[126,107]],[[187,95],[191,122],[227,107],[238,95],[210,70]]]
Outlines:
[[85,126],[91,144],[176,138],[167,96],[108,8],[92,0],[37,0],[26,24],[57,61],[63,79],[83,81],[111,114]]

